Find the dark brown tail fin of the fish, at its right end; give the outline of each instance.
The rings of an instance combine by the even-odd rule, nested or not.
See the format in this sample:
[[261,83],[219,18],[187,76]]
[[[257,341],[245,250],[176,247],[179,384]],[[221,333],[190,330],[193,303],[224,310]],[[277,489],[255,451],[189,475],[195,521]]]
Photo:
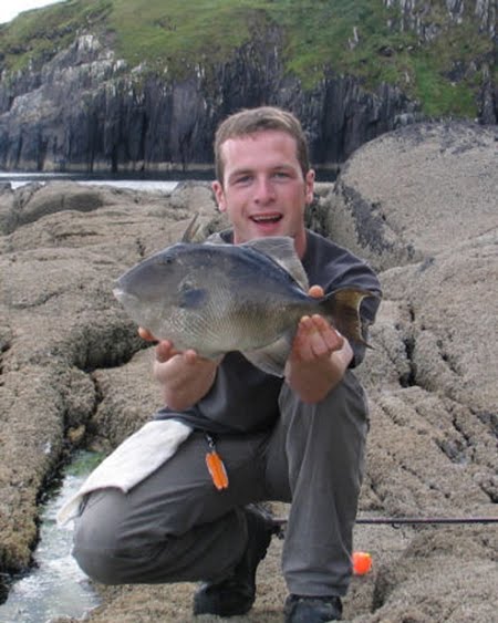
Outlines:
[[347,340],[357,342],[371,349],[365,341],[366,321],[360,315],[360,307],[363,299],[369,297],[378,298],[370,290],[361,288],[341,288],[324,297],[319,307],[325,318],[330,318],[334,328]]

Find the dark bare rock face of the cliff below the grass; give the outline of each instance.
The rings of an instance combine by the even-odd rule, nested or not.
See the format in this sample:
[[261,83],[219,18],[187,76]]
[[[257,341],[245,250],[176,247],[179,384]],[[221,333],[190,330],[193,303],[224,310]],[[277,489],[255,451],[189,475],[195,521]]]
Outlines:
[[180,81],[136,82],[94,35],[82,35],[40,74],[0,86],[0,168],[28,170],[164,170],[208,166],[219,121],[230,111],[269,103],[304,120],[313,158],[338,164],[365,141],[413,121],[416,105],[395,87],[364,91],[330,76],[304,92],[283,74],[277,32],[232,61]]

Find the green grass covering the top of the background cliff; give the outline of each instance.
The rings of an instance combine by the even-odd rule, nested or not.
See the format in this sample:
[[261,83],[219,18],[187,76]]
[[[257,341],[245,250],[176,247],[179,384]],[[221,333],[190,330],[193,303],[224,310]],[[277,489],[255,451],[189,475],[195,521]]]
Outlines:
[[[400,14],[383,0],[68,0],[0,27],[0,62],[10,72],[37,65],[90,31],[112,40],[131,68],[170,79],[195,71],[208,77],[214,64],[278,27],[286,71],[303,89],[328,72],[352,74],[370,90],[398,85],[428,115],[475,116],[480,79],[470,61],[492,54],[492,42],[470,17],[449,23],[443,4],[432,2],[424,18],[440,35],[421,45],[414,32],[388,25]],[[455,66],[463,70],[452,77]]]

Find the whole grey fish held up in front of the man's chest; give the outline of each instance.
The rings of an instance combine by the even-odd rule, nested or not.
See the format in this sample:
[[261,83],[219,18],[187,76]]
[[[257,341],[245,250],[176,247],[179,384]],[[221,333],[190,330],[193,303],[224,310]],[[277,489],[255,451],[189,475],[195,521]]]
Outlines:
[[310,297],[292,238],[184,240],[142,260],[113,289],[129,318],[157,340],[207,359],[239,351],[277,376],[283,376],[303,315],[322,314],[347,340],[369,346],[360,305],[376,294],[341,288]]

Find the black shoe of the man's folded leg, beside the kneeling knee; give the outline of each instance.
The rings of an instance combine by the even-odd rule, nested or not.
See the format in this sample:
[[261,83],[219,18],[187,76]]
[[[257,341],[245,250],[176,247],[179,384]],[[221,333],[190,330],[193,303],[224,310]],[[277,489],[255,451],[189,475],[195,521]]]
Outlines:
[[246,551],[234,573],[221,582],[204,582],[194,595],[194,614],[236,616],[246,614],[256,599],[256,570],[267,555],[272,534],[279,526],[262,507],[250,505],[243,509],[247,520]]

